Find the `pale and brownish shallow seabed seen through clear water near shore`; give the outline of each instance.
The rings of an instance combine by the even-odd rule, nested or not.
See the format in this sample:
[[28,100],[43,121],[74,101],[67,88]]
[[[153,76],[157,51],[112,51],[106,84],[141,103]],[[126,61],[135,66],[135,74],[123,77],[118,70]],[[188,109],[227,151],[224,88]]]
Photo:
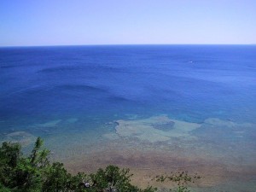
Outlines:
[[[70,127],[77,121],[69,119]],[[56,119],[32,127],[50,131],[60,122]],[[199,124],[159,115],[106,122],[106,129],[111,126],[112,131],[101,133],[81,131],[47,137],[45,143],[54,153],[52,160],[63,162],[73,173],[116,165],[131,169],[132,183],[141,187],[154,185],[162,191],[175,183],[156,183],[152,178],[171,172],[200,175],[201,179],[189,183],[196,191],[256,189],[255,142],[247,139],[246,132],[254,127],[252,124],[214,118]],[[223,137],[224,134],[232,137]],[[35,137],[26,131],[15,131],[5,140],[26,146]]]

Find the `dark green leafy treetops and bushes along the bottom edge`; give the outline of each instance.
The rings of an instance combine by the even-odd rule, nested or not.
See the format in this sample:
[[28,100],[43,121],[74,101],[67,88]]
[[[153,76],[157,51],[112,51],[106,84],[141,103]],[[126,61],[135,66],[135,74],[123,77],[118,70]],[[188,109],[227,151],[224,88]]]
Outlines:
[[[156,188],[148,186],[139,189],[131,184],[129,169],[107,166],[96,173],[79,172],[71,175],[60,162],[49,162],[49,150],[42,148],[43,140],[38,137],[32,153],[26,157],[21,153],[19,143],[3,143],[0,148],[0,191],[3,192],[154,192]],[[192,177],[187,172],[158,176],[156,181],[177,182],[177,189],[172,191],[189,191],[185,184]]]

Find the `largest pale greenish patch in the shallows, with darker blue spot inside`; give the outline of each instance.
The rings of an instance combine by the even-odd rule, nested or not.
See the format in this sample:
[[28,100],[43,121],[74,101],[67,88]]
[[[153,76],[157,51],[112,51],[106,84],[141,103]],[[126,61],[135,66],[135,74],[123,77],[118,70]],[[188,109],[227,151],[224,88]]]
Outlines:
[[[172,137],[193,138],[191,131],[201,127],[200,124],[170,119],[166,115],[154,116],[148,119],[117,120],[116,135],[119,137],[136,137],[149,143],[166,142]],[[169,129],[168,129],[169,128]],[[103,137],[115,138],[113,134]]]

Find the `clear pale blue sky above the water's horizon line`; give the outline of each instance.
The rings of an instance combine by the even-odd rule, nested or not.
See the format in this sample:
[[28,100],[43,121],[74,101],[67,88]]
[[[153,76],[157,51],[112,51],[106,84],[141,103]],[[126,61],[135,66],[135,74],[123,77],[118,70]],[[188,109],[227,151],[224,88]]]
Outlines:
[[0,0],[0,46],[256,44],[256,0]]

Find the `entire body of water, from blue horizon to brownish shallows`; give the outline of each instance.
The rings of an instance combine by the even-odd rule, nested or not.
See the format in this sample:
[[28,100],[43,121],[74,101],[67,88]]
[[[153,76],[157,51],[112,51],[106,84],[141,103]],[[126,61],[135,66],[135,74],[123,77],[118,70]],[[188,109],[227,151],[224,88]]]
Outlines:
[[256,46],[0,48],[0,140],[43,137],[71,172],[115,164],[256,189]]

